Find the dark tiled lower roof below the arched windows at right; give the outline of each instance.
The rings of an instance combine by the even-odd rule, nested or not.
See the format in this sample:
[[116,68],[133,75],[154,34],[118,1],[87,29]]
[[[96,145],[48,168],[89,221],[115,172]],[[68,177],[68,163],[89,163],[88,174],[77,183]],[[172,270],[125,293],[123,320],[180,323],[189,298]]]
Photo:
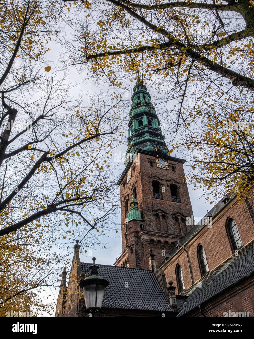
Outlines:
[[[254,273],[254,240],[242,247],[238,255],[233,254],[180,294],[188,298],[180,308],[178,317],[185,315],[252,273]],[[200,282],[202,287],[198,287]]]

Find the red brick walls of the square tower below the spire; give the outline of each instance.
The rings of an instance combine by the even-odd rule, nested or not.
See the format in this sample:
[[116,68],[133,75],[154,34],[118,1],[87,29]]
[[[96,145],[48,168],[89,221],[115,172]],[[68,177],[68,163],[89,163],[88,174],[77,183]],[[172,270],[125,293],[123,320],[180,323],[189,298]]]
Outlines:
[[[171,243],[180,240],[185,234],[184,225],[181,222],[182,216],[191,216],[192,206],[190,204],[187,184],[183,182],[184,170],[182,163],[168,160],[169,170],[161,169],[156,166],[156,157],[140,154],[140,163],[131,165],[132,176],[129,182],[126,182],[126,176],[120,185],[121,196],[121,222],[122,222],[122,246],[126,248],[126,237],[128,246],[133,245],[134,256],[128,253],[129,267],[148,268],[149,249],[153,248],[156,254],[155,260],[161,263],[164,256],[174,246]],[[153,166],[150,166],[153,161]],[[173,172],[171,165],[175,165],[176,171]],[[135,172],[133,172],[135,167]],[[153,198],[152,181],[160,182],[163,200]],[[123,185],[125,183],[125,185]],[[175,183],[178,186],[178,194],[181,203],[173,202],[170,192],[170,184]],[[134,187],[137,190],[137,201],[139,211],[142,212],[144,222],[129,222],[125,225],[125,201],[130,202]],[[160,215],[161,229],[156,226],[155,214]],[[166,215],[166,220],[162,219],[162,214]],[[173,217],[177,215],[180,222],[180,233],[177,233],[176,222]],[[140,231],[140,225],[144,225],[144,231]],[[186,226],[189,231],[192,226]],[[126,236],[127,234],[127,236]],[[138,247],[137,247],[138,246]],[[132,260],[134,258],[134,260]],[[121,265],[122,258],[116,265]]]

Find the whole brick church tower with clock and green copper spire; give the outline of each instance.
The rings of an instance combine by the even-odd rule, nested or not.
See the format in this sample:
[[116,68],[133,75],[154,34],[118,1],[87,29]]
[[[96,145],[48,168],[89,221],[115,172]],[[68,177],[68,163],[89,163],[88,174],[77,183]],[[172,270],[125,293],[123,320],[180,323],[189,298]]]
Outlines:
[[149,268],[149,250],[160,264],[192,226],[185,160],[168,155],[151,96],[138,76],[131,97],[126,168],[121,175],[122,253],[116,266]]

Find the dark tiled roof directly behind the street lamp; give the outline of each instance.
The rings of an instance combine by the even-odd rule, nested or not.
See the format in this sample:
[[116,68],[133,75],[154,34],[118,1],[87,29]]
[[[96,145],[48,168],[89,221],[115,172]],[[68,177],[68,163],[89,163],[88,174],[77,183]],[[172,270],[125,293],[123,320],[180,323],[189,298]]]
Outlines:
[[[81,263],[81,272],[90,275],[91,263]],[[103,307],[172,312],[161,286],[151,270],[98,265],[99,276],[109,281]],[[126,286],[128,283],[128,287]]]

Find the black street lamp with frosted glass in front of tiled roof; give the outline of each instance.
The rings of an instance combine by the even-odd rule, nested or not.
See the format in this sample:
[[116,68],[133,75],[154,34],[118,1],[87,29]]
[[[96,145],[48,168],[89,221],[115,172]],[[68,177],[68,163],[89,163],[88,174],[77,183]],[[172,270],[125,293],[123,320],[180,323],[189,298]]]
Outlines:
[[102,311],[102,300],[104,296],[105,288],[109,282],[98,275],[99,266],[95,264],[96,258],[92,258],[93,264],[89,267],[90,276],[85,279],[85,273],[80,274],[81,281],[79,286],[83,289],[86,307],[82,308],[82,316],[85,317],[85,313],[98,314],[99,317],[105,317],[105,313]]

